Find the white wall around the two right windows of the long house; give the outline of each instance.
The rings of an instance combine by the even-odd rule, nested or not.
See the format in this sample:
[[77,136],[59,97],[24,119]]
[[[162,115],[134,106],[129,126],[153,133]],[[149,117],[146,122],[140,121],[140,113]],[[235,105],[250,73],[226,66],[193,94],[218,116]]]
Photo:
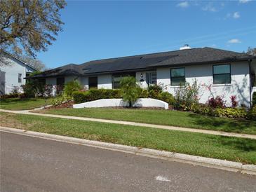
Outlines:
[[[157,69],[157,84],[164,85],[166,91],[175,95],[177,86],[170,85],[170,67]],[[211,90],[215,96],[223,96],[230,105],[230,96],[236,95],[238,104],[250,106],[250,76],[248,62],[231,63],[231,84],[213,85],[213,64],[203,64],[185,67],[186,81],[193,83],[196,78],[200,90],[200,102],[206,103],[210,98],[210,91],[203,83],[211,85]]]

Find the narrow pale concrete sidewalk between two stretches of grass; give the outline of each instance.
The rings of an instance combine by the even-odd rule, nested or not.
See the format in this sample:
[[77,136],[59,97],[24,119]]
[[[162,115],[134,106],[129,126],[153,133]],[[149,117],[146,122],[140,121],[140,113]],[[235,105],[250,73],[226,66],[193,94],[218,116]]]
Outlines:
[[86,118],[86,117],[78,117],[78,116],[62,116],[62,115],[54,115],[54,114],[39,114],[30,112],[30,110],[22,110],[22,111],[13,111],[13,110],[5,110],[0,109],[1,112],[6,113],[13,113],[13,114],[26,114],[26,115],[34,115],[34,116],[48,116],[48,117],[55,117],[55,118],[67,118],[67,119],[74,119],[74,120],[81,120],[81,121],[95,121],[101,123],[114,123],[120,125],[133,125],[133,126],[140,126],[140,127],[147,127],[147,128],[157,128],[157,129],[164,129],[164,130],[178,130],[178,131],[186,131],[186,132],[198,132],[204,133],[209,135],[221,135],[226,137],[239,137],[239,138],[246,138],[246,139],[256,139],[256,135],[248,135],[248,134],[240,134],[234,132],[222,132],[222,131],[215,131],[215,130],[200,130],[200,129],[192,129],[192,128],[180,128],[168,125],[155,125],[149,123],[135,123],[130,121],[115,121],[115,120],[107,120],[101,118]]

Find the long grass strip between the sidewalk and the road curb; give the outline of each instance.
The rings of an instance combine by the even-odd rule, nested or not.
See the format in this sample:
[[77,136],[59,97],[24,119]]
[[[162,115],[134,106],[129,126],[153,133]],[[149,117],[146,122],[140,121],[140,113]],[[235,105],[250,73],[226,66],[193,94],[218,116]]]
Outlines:
[[256,164],[256,141],[130,125],[0,113],[2,126]]

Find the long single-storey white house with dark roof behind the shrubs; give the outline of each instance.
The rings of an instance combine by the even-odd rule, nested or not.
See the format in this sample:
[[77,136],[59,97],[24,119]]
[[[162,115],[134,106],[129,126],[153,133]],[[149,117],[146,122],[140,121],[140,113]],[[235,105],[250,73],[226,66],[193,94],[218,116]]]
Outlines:
[[158,84],[173,95],[180,83],[196,79],[201,85],[200,102],[213,94],[230,104],[231,95],[236,95],[238,104],[249,107],[256,91],[255,72],[256,57],[206,47],[67,64],[34,78],[46,79],[50,85],[78,80],[84,88],[112,89],[119,88],[123,76],[135,76],[142,88]]

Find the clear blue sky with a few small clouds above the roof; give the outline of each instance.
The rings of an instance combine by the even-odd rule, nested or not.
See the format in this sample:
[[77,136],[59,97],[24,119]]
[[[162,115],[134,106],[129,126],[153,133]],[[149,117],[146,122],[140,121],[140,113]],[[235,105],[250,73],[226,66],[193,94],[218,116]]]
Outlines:
[[63,31],[37,58],[47,68],[213,47],[256,47],[256,1],[67,1]]

